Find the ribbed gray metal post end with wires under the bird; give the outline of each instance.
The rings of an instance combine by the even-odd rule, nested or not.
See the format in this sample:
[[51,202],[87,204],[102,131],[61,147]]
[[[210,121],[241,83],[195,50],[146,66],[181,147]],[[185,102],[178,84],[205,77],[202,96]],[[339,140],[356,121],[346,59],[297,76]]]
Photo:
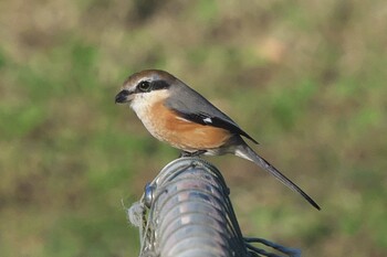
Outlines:
[[139,227],[139,257],[279,257],[252,243],[301,256],[265,239],[243,238],[223,176],[199,158],[180,158],[165,167],[128,216]]

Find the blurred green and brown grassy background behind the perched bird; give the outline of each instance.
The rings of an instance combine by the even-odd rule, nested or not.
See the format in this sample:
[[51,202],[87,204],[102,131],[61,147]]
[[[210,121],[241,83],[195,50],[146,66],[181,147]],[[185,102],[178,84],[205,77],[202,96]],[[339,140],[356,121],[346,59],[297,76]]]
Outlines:
[[163,68],[322,206],[248,161],[208,158],[244,235],[387,256],[386,28],[384,0],[1,1],[0,255],[138,255],[125,208],[178,152],[114,96]]

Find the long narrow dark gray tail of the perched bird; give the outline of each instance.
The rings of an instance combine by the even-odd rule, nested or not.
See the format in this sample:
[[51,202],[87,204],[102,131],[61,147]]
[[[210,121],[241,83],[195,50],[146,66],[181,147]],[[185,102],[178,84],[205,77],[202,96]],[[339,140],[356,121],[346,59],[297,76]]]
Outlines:
[[302,189],[300,189],[296,184],[294,184],[290,179],[287,179],[284,174],[282,174],[278,169],[275,169],[272,164],[270,164],[266,160],[264,160],[262,157],[258,156],[254,150],[252,150],[247,144],[241,144],[237,147],[236,156],[241,157],[243,159],[247,159],[249,161],[254,162],[265,171],[268,171],[270,174],[274,175],[279,181],[281,181],[284,185],[293,190],[294,192],[297,192],[301,194],[310,204],[312,204],[315,208],[321,210],[318,204],[316,204],[311,196],[308,196]]

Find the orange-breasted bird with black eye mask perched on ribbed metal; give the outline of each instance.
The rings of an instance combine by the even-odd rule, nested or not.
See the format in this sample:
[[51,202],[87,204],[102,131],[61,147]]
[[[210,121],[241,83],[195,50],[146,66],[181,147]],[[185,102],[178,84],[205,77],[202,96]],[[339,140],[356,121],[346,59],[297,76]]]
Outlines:
[[181,157],[231,153],[247,159],[321,210],[311,196],[243,140],[245,138],[258,144],[255,139],[170,73],[161,69],[134,73],[124,82],[115,103],[128,104],[150,135],[181,150]]

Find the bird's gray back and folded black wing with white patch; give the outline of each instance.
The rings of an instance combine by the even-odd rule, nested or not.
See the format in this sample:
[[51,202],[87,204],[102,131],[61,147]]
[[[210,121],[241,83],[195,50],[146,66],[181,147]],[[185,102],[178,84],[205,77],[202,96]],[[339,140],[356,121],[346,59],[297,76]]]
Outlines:
[[243,131],[229,116],[213,106],[199,93],[178,81],[166,100],[166,106],[178,113],[182,118],[192,122],[213,126],[229,130],[232,133],[241,135],[254,143],[252,137]]

